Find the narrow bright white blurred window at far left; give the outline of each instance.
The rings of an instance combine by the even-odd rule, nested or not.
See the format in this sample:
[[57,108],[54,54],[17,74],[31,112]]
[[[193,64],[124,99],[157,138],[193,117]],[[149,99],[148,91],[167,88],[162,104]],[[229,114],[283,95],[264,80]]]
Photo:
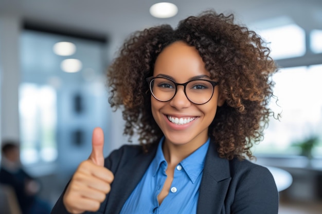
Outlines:
[[56,105],[56,92],[52,87],[21,84],[19,113],[24,164],[56,160]]

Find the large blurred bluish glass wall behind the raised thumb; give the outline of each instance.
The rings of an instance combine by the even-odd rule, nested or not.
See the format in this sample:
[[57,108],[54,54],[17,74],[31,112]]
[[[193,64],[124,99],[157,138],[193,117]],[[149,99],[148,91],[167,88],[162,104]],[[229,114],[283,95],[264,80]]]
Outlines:
[[[74,44],[75,51],[58,55],[54,47],[60,42]],[[22,32],[22,164],[75,170],[91,151],[94,127],[101,127],[109,135],[105,48],[103,42],[94,39],[36,30]],[[78,61],[77,69],[69,63],[67,68],[63,66],[70,59]]]

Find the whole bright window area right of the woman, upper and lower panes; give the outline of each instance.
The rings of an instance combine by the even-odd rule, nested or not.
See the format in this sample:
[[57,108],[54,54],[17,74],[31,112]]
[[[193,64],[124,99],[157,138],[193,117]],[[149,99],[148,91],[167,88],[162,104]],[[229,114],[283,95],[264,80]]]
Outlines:
[[[303,155],[299,144],[317,139],[312,155],[322,157],[322,61],[311,57],[322,52],[322,31],[306,32],[288,16],[254,24],[270,47],[271,57],[277,64],[283,64],[273,76],[278,101],[272,99],[270,104],[275,115],[281,113],[281,118],[270,119],[263,141],[252,148],[254,154]],[[293,57],[297,57],[295,65],[294,60],[288,61]],[[316,59],[311,60],[315,65],[307,66],[309,59]],[[306,66],[295,67],[298,62]]]

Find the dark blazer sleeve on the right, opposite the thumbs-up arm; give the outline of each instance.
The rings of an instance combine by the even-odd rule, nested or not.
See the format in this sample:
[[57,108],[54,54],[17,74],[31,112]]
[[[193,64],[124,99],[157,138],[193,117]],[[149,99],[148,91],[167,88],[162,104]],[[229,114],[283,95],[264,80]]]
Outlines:
[[271,172],[255,166],[240,177],[231,214],[277,214],[278,203],[278,191]]

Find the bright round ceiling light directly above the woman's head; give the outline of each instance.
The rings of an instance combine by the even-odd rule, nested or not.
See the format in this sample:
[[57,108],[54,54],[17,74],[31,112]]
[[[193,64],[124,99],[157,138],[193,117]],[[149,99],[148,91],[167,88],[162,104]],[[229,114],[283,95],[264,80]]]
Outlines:
[[150,13],[157,18],[170,18],[175,16],[178,8],[175,4],[169,2],[160,2],[150,7]]

